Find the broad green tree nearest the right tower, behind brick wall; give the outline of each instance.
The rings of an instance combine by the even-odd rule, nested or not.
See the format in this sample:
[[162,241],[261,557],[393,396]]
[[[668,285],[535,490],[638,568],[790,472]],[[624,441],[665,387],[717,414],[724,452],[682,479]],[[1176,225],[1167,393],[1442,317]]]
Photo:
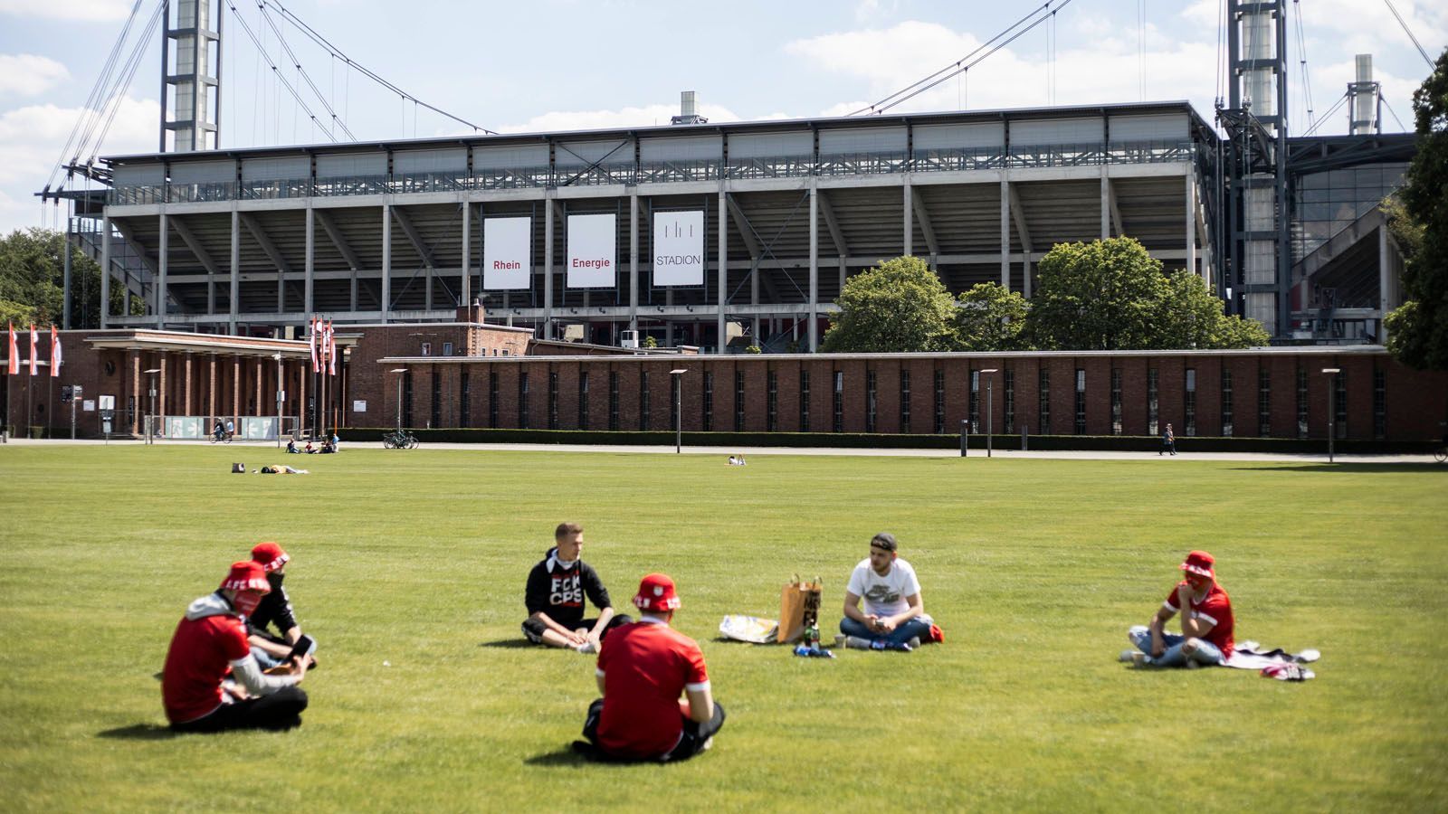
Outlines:
[[1164,274],[1131,238],[1058,243],[1041,258],[1027,317],[1043,349],[1147,351],[1266,345],[1261,323],[1228,317],[1195,274]]

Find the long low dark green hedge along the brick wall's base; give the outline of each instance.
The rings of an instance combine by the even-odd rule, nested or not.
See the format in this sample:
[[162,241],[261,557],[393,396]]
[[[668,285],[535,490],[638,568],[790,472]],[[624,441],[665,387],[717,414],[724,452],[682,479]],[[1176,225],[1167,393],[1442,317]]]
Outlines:
[[[342,445],[382,442],[391,427],[348,427],[340,430]],[[410,430],[423,443],[572,443],[611,446],[670,446],[673,433],[668,430],[487,430],[439,429]],[[783,446],[838,449],[960,449],[959,435],[883,435],[883,433],[683,433],[685,446]],[[1019,435],[995,435],[996,449],[1021,449]],[[1428,453],[1434,442],[1339,440],[1335,449],[1352,453]],[[970,436],[972,450],[985,450],[983,435]],[[1028,448],[1035,450],[1108,450],[1157,452],[1161,440],[1156,436],[1030,436]],[[1286,437],[1184,437],[1177,436],[1177,452],[1276,452],[1326,453],[1328,440]]]

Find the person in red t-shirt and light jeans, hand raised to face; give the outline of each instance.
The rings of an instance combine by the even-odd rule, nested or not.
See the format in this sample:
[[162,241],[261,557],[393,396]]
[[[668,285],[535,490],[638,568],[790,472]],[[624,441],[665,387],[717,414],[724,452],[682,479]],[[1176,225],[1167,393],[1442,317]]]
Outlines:
[[[1186,555],[1186,579],[1167,594],[1150,626],[1135,626],[1127,636],[1137,646],[1121,660],[1164,668],[1221,665],[1232,656],[1232,600],[1216,584],[1215,559],[1206,552]],[[1167,620],[1182,613],[1182,636],[1166,633]]]

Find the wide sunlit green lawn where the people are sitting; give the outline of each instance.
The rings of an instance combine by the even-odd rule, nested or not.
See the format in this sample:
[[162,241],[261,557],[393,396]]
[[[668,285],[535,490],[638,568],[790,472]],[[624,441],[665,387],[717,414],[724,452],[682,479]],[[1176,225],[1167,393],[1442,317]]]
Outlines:
[[[0,448],[4,810],[1394,810],[1448,807],[1448,468],[272,449]],[[298,456],[285,462],[297,465]],[[520,646],[565,519],[627,605],[678,581],[728,723],[702,758],[566,752],[592,659]],[[943,646],[799,659],[718,642],[893,532]],[[291,733],[172,737],[181,611],[259,540],[323,666]],[[1116,663],[1189,549],[1238,640],[1318,678]],[[388,666],[390,663],[390,666]]]

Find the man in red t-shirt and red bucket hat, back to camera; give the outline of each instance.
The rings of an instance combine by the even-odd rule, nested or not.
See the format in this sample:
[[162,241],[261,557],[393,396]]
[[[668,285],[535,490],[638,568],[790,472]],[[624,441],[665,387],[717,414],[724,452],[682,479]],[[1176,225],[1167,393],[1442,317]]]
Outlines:
[[[714,702],[704,653],[669,627],[679,595],[673,579],[650,574],[639,582],[639,621],[614,629],[598,653],[602,698],[588,707],[584,753],[615,760],[683,760],[714,743],[724,707]],[[682,695],[682,698],[681,698]]]

